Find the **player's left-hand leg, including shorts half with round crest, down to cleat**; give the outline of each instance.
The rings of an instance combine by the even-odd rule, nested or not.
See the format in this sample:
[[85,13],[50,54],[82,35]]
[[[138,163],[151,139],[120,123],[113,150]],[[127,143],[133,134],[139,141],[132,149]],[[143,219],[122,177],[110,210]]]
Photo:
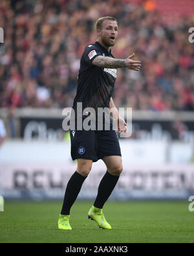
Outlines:
[[[58,225],[61,229],[71,229],[69,225],[70,208],[74,204],[83,181],[89,174],[92,161],[97,161],[95,155],[95,133],[92,130],[70,130],[71,156],[72,160],[78,159],[78,168],[67,183],[61,215]],[[62,222],[61,222],[62,221]],[[66,224],[66,225],[65,225]]]

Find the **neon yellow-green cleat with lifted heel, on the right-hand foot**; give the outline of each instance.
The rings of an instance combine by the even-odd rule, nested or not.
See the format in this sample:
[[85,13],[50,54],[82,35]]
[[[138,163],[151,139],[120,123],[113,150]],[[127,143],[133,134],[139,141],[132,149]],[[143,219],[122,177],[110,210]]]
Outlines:
[[96,208],[94,205],[92,205],[91,209],[89,210],[88,218],[94,220],[100,228],[112,229],[111,225],[106,221],[102,209]]

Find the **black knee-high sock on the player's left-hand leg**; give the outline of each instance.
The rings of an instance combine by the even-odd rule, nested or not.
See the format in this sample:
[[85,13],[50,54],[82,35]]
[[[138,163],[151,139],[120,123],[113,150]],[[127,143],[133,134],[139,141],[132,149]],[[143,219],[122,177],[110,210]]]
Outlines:
[[81,190],[83,181],[85,181],[86,178],[87,177],[82,176],[78,172],[74,172],[74,174],[72,174],[69,182],[67,183],[65,196],[63,200],[63,206],[61,209],[61,215],[70,214],[70,208],[76,201],[76,198],[78,197],[78,194]]

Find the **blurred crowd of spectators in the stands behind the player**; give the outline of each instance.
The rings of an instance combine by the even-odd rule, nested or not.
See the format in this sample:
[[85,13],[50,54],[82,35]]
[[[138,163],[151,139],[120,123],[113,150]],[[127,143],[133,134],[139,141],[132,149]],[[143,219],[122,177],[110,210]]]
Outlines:
[[98,17],[118,19],[115,58],[135,52],[140,72],[118,69],[117,107],[194,110],[194,44],[191,17],[166,23],[155,8],[127,0],[0,1],[0,107],[72,106],[80,57],[96,41]]

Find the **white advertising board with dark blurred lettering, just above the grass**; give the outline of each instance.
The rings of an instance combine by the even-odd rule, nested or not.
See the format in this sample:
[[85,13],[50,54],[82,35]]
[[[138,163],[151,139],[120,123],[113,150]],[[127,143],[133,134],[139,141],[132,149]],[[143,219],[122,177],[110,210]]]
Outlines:
[[[100,162],[99,162],[100,163]],[[5,197],[62,198],[76,164],[3,165],[0,186]],[[80,198],[94,198],[105,173],[105,165],[94,163],[83,183]],[[113,198],[185,198],[194,191],[193,165],[151,165],[124,167]],[[2,193],[1,191],[1,193]]]

